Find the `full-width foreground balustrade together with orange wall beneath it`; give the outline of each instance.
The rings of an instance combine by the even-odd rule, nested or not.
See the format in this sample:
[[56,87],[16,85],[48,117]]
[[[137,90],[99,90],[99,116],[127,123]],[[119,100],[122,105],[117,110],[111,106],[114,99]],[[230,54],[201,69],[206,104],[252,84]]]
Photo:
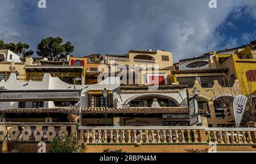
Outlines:
[[112,146],[141,152],[155,152],[155,146],[158,146],[159,152],[175,152],[179,149],[182,152],[192,147],[212,149],[212,145],[216,146],[216,151],[255,151],[255,131],[256,128],[201,126],[77,127],[73,123],[0,123],[0,141],[28,144],[27,141],[47,142],[56,136],[72,135],[80,143],[86,144],[85,152],[100,152]]

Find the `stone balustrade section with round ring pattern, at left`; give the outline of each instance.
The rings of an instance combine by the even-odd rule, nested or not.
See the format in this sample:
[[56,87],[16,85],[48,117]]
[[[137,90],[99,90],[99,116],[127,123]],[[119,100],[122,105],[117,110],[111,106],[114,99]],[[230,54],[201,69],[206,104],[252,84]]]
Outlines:
[[53,141],[55,137],[77,138],[74,123],[0,123],[0,141]]

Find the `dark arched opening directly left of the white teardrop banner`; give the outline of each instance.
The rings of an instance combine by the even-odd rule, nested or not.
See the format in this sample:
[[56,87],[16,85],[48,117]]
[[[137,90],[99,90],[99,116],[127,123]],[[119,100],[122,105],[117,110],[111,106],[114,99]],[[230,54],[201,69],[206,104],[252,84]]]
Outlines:
[[226,115],[231,116],[230,107],[232,107],[234,97],[221,96],[213,101],[214,111],[217,119],[224,119]]

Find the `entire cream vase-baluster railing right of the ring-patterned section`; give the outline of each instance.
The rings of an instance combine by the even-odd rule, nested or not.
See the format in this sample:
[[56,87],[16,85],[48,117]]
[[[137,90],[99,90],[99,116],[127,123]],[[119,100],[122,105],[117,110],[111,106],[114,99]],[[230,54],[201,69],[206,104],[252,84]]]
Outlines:
[[[79,127],[84,143],[254,144],[256,128]],[[239,137],[238,137],[239,136]]]

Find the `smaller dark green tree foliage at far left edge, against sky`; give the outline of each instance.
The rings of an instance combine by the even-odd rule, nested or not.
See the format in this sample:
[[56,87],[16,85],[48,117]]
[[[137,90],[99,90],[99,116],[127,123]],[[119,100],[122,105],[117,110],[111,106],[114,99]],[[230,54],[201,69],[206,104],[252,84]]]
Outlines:
[[9,49],[18,55],[22,55],[23,57],[30,57],[34,54],[34,51],[28,50],[29,48],[30,45],[26,43],[5,43],[3,40],[0,40],[0,49]]

